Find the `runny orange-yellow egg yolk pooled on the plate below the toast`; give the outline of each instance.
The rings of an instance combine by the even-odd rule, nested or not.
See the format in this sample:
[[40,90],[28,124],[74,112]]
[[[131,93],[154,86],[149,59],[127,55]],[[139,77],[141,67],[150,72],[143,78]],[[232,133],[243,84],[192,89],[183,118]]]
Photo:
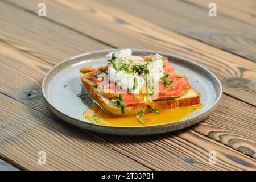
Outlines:
[[179,107],[175,109],[162,110],[159,114],[147,113],[141,116],[144,124],[139,122],[134,115],[127,116],[113,116],[106,111],[102,110],[97,104],[93,104],[92,107],[84,111],[84,117],[89,121],[94,121],[93,115],[97,115],[101,125],[108,126],[150,126],[159,125],[165,123],[171,123],[187,117],[187,115],[193,113],[195,110],[200,109],[203,105]]

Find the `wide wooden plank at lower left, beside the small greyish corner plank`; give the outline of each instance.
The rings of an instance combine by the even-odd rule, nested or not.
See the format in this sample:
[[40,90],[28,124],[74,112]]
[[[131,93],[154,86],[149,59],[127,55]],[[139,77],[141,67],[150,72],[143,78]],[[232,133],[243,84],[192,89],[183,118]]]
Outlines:
[[[0,94],[0,154],[29,170],[145,170],[101,140]],[[38,152],[46,152],[46,165]]]

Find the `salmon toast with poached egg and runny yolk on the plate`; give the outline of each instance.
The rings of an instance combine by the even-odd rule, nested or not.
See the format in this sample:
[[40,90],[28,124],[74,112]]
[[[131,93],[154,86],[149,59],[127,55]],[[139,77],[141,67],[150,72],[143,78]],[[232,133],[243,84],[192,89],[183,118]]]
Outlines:
[[102,117],[109,117],[110,121],[133,118],[144,124],[145,115],[158,114],[157,118],[163,115],[166,118],[168,113],[178,110],[177,119],[181,119],[199,109],[200,94],[166,57],[159,54],[134,56],[131,49],[122,49],[110,52],[106,59],[107,65],[80,68],[86,92],[98,104],[85,112],[85,117],[91,121],[101,122]]

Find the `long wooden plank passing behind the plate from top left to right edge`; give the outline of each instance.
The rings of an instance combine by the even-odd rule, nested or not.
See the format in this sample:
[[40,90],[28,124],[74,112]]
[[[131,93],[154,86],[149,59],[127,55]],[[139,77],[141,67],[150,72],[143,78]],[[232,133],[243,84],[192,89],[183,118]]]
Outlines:
[[[44,1],[12,2],[36,13]],[[256,105],[256,64],[251,61],[92,1],[47,1],[47,12],[47,19],[114,47],[155,49],[203,64],[220,78],[225,93]]]

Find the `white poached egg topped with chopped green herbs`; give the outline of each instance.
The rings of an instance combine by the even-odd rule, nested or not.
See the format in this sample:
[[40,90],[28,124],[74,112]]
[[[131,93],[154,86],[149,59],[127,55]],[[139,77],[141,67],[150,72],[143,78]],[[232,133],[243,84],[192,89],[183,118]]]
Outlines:
[[[108,79],[129,93],[139,94],[146,82],[154,85],[163,76],[163,61],[159,54],[147,62],[142,57],[133,56],[131,49],[122,49],[108,53],[106,58],[112,60],[108,67]],[[147,69],[147,74],[134,71],[135,66]]]

